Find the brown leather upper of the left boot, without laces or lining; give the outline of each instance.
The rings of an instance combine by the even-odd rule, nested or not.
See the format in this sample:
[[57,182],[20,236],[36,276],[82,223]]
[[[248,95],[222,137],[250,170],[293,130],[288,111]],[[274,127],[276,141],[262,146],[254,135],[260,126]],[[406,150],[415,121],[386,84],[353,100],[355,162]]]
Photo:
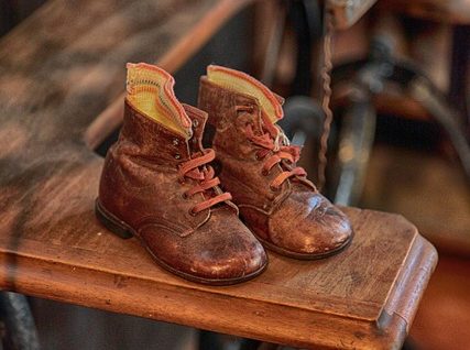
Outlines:
[[131,227],[164,265],[200,278],[241,278],[263,269],[266,255],[232,203],[192,211],[221,190],[216,186],[185,196],[198,181],[182,178],[178,168],[204,151],[200,139],[207,114],[184,108],[193,120],[189,140],[125,102],[119,140],[105,161],[99,201]]

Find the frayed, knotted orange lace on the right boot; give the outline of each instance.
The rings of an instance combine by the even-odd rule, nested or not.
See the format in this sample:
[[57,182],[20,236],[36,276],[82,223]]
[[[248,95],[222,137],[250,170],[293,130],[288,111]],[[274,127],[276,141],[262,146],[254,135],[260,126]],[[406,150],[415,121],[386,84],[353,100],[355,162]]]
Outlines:
[[[252,111],[252,108],[237,106],[237,111]],[[275,136],[266,130],[263,130],[263,134],[256,135],[251,123],[247,124],[245,130],[248,139],[261,147],[256,151],[256,158],[265,160],[262,167],[262,174],[267,176],[276,164],[280,164],[284,169],[272,181],[270,184],[271,189],[278,190],[286,179],[299,177],[302,182],[315,190],[315,185],[306,178],[307,172],[302,166],[296,166],[296,163],[300,157],[300,147],[291,145],[282,129],[277,125],[274,127],[277,129]]]

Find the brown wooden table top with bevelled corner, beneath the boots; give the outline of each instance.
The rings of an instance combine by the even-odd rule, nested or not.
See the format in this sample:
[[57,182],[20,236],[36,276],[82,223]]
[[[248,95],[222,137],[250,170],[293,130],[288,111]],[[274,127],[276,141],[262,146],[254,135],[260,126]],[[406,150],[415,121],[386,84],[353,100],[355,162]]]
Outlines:
[[270,254],[230,287],[166,273],[94,217],[102,158],[84,135],[106,136],[88,128],[122,92],[124,63],[175,70],[248,2],[54,0],[0,41],[0,287],[298,347],[397,349],[437,261],[403,217],[346,208],[345,252]]

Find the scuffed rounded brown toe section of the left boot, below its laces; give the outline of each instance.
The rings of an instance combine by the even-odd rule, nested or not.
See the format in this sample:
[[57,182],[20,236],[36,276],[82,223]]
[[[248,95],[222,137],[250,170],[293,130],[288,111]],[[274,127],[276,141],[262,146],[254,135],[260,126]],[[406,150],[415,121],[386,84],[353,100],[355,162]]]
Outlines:
[[263,247],[230,209],[214,210],[208,222],[185,237],[175,239],[155,225],[144,227],[140,237],[160,265],[193,282],[241,283],[267,265]]

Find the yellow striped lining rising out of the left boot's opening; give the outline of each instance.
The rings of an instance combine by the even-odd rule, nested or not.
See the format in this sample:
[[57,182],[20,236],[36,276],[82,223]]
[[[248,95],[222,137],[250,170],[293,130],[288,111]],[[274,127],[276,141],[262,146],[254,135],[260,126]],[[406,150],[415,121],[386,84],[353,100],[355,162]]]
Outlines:
[[192,122],[176,99],[173,77],[153,65],[128,63],[128,101],[146,117],[185,139],[192,135]]

